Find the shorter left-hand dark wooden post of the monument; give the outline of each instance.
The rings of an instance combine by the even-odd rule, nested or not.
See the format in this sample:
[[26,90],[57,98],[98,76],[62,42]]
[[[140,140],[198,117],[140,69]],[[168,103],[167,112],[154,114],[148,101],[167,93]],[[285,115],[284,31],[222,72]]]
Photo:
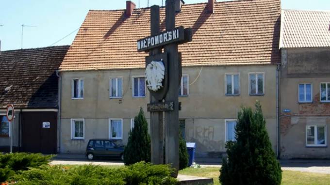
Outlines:
[[[153,5],[150,9],[151,35],[155,35],[160,31],[159,6]],[[149,56],[162,52],[162,48],[157,47],[149,52]],[[150,103],[159,103],[150,94]],[[150,112],[150,137],[151,137],[151,162],[153,164],[164,164],[164,145],[163,145],[163,112]]]

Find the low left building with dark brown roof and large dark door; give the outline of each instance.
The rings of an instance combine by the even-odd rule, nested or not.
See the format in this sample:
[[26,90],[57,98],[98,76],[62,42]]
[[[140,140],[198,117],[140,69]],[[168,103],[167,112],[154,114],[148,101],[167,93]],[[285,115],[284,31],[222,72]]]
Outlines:
[[[69,46],[0,51],[0,151],[54,154],[58,137],[57,69]],[[11,126],[6,107],[13,104]],[[13,128],[11,136],[11,128]]]

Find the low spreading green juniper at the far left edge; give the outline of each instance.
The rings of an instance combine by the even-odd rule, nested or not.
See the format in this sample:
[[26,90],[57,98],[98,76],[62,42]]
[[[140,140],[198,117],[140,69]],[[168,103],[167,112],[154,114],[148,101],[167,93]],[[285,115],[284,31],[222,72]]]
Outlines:
[[10,179],[18,170],[48,164],[54,155],[11,153],[0,154],[0,182]]

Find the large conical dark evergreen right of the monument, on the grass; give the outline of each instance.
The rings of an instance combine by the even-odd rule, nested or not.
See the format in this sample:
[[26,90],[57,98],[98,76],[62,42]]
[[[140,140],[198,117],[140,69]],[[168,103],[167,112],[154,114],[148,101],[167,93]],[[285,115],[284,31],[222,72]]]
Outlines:
[[281,166],[272,150],[261,105],[238,113],[236,142],[227,142],[228,159],[223,159],[222,185],[280,185]]

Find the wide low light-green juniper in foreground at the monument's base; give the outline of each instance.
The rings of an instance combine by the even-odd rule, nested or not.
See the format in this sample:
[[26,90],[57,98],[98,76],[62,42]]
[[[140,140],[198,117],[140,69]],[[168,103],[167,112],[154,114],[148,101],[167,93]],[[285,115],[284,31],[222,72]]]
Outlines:
[[78,167],[48,166],[20,171],[17,185],[176,185],[167,165],[139,162],[123,168],[83,165]]

